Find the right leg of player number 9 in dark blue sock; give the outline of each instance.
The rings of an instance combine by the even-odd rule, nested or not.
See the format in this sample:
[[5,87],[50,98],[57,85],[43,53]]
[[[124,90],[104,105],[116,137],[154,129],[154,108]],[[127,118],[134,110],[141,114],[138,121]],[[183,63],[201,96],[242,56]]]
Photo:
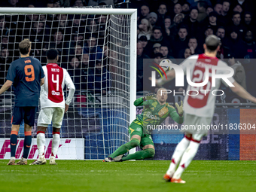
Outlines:
[[35,123],[35,114],[37,112],[37,107],[23,107],[24,111],[24,146],[23,146],[23,157],[17,163],[17,165],[26,165],[27,158],[29,156],[29,150],[32,142],[32,126]]

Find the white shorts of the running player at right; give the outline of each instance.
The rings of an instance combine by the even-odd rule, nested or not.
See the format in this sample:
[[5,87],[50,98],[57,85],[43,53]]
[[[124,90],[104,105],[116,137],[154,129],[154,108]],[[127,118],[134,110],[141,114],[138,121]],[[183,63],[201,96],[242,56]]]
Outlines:
[[212,117],[199,117],[194,114],[184,113],[184,126],[181,128],[182,133],[192,134],[192,138],[201,141],[203,136],[207,136]]

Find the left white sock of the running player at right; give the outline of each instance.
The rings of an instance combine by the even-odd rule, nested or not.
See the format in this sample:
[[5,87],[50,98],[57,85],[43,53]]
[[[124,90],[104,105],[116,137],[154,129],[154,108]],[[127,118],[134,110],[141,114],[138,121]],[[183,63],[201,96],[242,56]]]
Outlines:
[[172,177],[172,175],[175,172],[175,169],[181,160],[182,155],[184,154],[184,151],[186,150],[187,146],[190,143],[190,139],[187,136],[184,136],[184,138],[181,140],[181,142],[178,143],[178,145],[175,148],[175,151],[172,154],[172,162],[169,165],[169,169],[167,170],[166,174]]

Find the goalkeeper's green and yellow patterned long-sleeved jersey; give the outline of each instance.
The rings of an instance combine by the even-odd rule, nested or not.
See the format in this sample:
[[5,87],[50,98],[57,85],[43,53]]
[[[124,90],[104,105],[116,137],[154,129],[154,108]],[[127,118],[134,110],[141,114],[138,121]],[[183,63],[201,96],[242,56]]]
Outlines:
[[[138,114],[135,123],[142,123],[144,133],[148,133],[148,125],[160,125],[166,117],[171,117],[175,122],[183,123],[183,116],[180,117],[172,105],[166,102],[165,105],[160,105],[157,100],[151,99],[143,101],[143,98],[136,99],[136,106],[144,106],[142,114]],[[138,122],[139,121],[139,122]]]

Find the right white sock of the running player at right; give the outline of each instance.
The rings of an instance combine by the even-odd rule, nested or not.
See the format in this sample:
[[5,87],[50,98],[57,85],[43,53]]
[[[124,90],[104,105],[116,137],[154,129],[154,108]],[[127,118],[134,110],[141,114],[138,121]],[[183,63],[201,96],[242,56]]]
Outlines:
[[181,158],[181,163],[178,166],[178,169],[175,171],[172,178],[181,178],[182,172],[184,172],[184,169],[189,166],[195,155],[197,154],[198,148],[199,148],[200,142],[197,141],[190,141],[190,144],[188,145],[187,149],[184,151],[184,154]]

